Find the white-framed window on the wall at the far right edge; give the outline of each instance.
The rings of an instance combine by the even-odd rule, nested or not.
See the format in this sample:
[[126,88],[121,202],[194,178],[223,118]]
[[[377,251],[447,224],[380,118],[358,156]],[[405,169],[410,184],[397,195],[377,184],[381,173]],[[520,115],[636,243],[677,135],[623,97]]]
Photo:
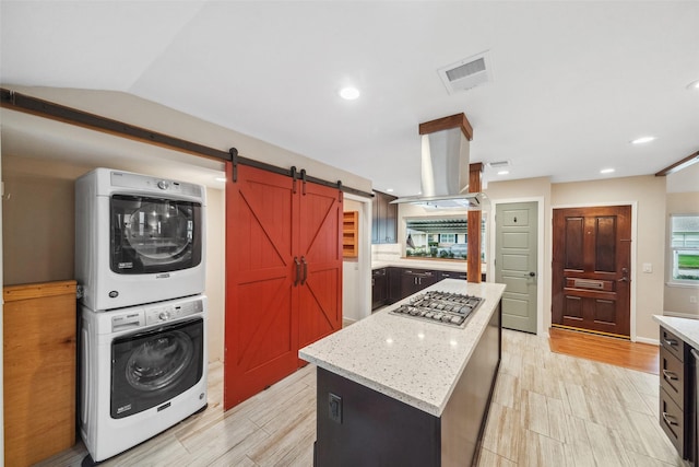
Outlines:
[[670,218],[671,282],[699,285],[699,214]]

